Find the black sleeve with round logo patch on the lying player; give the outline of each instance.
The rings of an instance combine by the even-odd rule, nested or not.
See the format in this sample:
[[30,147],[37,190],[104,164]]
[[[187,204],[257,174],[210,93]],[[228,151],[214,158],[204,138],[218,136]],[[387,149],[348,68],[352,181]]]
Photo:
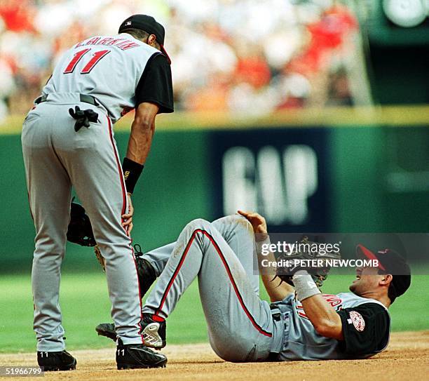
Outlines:
[[341,309],[343,326],[341,347],[346,354],[366,356],[383,350],[389,341],[390,316],[376,303]]

